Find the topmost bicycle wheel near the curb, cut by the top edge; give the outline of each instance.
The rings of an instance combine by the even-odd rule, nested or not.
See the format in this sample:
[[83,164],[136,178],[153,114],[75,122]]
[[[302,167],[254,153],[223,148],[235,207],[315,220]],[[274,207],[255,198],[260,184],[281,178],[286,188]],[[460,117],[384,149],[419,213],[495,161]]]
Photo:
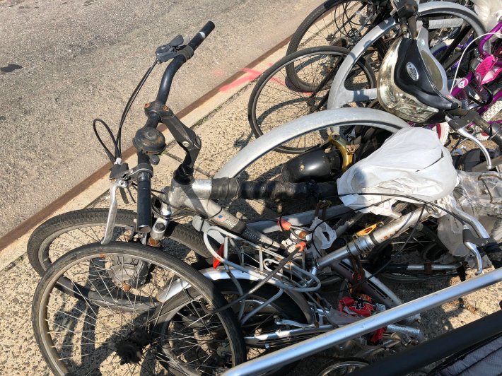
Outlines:
[[351,47],[370,28],[373,3],[329,0],[317,6],[296,29],[286,54],[308,47],[334,45]]

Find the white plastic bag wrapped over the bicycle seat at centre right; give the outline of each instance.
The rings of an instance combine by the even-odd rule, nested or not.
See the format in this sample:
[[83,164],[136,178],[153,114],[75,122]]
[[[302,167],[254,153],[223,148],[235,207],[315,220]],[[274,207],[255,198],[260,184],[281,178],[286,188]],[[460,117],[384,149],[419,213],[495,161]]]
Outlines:
[[363,208],[363,213],[393,216],[395,201],[419,202],[411,198],[361,195],[401,194],[425,201],[448,196],[457,184],[457,172],[448,149],[441,145],[435,132],[424,128],[404,128],[367,158],[358,161],[337,181],[339,194],[346,206]]

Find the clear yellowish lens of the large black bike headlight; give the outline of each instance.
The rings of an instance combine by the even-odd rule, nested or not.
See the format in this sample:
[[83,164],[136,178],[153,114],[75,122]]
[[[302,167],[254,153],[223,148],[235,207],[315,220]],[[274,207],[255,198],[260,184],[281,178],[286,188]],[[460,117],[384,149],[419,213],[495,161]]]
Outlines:
[[[395,65],[401,42],[402,38],[394,42],[380,65],[380,72],[377,78],[378,101],[391,114],[395,114],[411,122],[424,123],[433,114],[438,113],[439,110],[424,105],[424,103],[421,103],[413,95],[405,93],[395,84]],[[414,76],[414,74],[416,74],[416,79],[424,79],[418,76],[418,72],[414,70],[414,66],[409,66],[409,75]]]

